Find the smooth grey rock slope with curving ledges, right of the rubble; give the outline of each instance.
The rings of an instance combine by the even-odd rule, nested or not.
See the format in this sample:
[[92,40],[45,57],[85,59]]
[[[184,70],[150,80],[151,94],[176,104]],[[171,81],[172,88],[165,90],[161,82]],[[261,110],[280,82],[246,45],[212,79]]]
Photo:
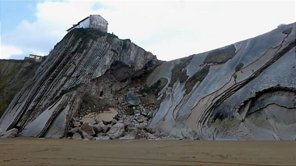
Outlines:
[[148,77],[167,84],[149,124],[176,137],[296,139],[295,23],[166,62]]

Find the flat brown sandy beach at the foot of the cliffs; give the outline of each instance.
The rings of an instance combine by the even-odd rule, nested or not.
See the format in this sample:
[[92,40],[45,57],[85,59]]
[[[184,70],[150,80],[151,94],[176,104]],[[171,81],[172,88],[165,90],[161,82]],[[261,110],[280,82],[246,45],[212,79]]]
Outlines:
[[296,165],[296,141],[0,139],[6,165]]

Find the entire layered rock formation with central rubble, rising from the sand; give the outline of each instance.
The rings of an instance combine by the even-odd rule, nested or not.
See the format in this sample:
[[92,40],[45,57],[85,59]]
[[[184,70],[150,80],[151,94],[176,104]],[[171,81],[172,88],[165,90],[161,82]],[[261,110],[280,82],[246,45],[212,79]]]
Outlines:
[[0,137],[296,140],[296,23],[163,62],[76,29],[0,119]]

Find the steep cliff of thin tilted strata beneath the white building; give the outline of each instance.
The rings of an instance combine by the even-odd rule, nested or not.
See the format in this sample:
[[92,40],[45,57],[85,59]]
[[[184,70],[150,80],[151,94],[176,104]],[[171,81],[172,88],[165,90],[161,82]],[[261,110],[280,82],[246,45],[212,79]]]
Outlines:
[[[149,65],[157,63],[156,56],[130,40],[96,30],[75,29],[49,53],[30,85],[26,84],[15,96],[0,119],[0,133],[16,128],[20,136],[62,137],[86,97],[89,101],[119,90],[136,73],[145,73]],[[116,68],[120,64],[122,70]],[[119,71],[123,74],[117,74]],[[113,80],[109,82],[108,78]],[[116,85],[116,79],[122,83]],[[106,84],[100,86],[101,83]],[[107,84],[113,87],[103,89]]]

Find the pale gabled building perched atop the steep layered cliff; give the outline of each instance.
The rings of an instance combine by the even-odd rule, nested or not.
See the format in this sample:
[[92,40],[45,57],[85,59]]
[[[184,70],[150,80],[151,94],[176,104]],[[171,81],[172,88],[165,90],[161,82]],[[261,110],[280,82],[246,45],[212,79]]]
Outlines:
[[77,24],[74,24],[73,27],[69,28],[66,31],[70,32],[75,28],[95,28],[107,33],[107,27],[108,21],[105,20],[103,17],[101,17],[100,15],[90,15],[89,17],[86,17],[79,21]]

